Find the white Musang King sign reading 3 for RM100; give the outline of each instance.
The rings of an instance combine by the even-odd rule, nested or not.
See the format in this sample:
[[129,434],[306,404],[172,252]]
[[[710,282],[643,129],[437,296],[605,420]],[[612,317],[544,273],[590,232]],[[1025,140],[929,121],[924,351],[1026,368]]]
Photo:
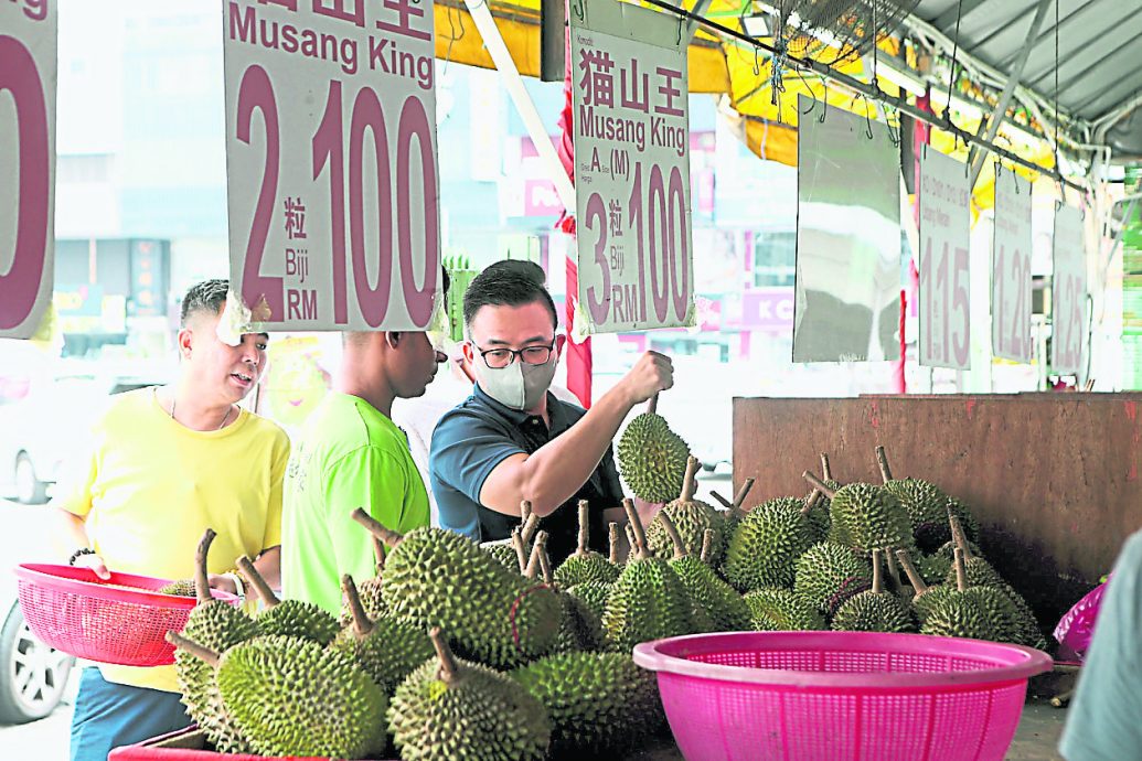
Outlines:
[[693,325],[685,30],[616,0],[570,9],[576,332]]

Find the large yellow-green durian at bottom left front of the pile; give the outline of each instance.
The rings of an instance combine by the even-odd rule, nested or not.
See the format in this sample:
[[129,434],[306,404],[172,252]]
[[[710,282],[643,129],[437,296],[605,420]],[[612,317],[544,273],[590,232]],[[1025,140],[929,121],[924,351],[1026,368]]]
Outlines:
[[299,637],[257,637],[223,654],[168,632],[214,666],[223,704],[258,755],[363,759],[384,751],[388,698],[357,662]]

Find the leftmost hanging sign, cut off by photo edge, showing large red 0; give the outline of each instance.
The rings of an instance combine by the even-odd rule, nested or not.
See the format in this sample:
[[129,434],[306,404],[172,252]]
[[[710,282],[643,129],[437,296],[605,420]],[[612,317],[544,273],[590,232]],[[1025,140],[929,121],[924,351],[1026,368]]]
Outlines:
[[56,1],[0,2],[0,338],[31,338],[55,283]]

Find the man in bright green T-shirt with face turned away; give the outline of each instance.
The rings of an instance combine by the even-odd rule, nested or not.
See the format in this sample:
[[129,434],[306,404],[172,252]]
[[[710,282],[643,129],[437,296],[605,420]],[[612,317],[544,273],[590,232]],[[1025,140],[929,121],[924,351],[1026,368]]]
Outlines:
[[340,380],[306,420],[286,471],[286,598],[336,615],[341,575],[376,575],[372,542],[349,518],[355,508],[402,534],[428,525],[428,493],[391,415],[393,399],[424,394],[445,359],[425,333],[345,334]]

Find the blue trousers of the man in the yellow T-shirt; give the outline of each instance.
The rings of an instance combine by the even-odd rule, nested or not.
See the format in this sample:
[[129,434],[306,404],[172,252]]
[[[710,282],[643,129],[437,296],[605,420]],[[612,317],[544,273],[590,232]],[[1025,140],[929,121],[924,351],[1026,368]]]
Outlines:
[[108,682],[91,666],[79,680],[71,761],[107,761],[112,748],[191,726],[176,693]]

